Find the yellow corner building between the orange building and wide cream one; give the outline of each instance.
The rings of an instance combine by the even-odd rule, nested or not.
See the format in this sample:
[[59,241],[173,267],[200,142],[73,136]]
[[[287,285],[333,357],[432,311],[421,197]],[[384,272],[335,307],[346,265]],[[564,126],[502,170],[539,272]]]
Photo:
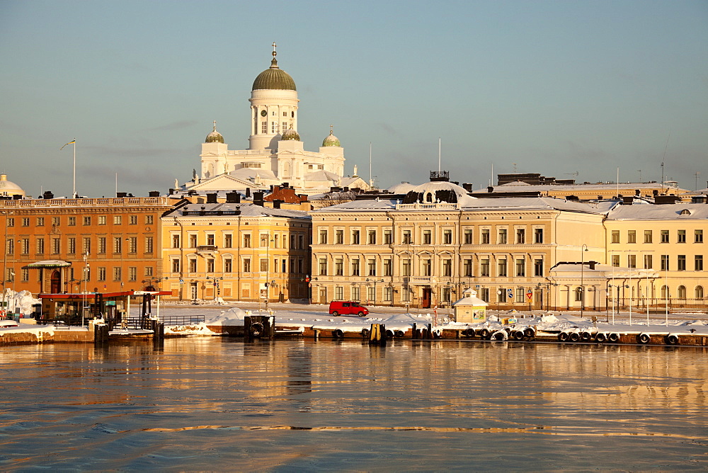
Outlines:
[[162,217],[163,287],[171,298],[307,298],[309,215],[234,200],[187,204]]

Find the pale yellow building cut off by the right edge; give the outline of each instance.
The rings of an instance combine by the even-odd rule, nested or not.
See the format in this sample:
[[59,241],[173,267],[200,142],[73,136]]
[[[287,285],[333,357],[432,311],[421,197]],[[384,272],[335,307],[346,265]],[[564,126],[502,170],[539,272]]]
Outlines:
[[620,205],[607,215],[605,227],[607,264],[658,273],[653,283],[637,278],[631,289],[620,287],[623,306],[631,298],[635,306],[706,308],[708,205]]

